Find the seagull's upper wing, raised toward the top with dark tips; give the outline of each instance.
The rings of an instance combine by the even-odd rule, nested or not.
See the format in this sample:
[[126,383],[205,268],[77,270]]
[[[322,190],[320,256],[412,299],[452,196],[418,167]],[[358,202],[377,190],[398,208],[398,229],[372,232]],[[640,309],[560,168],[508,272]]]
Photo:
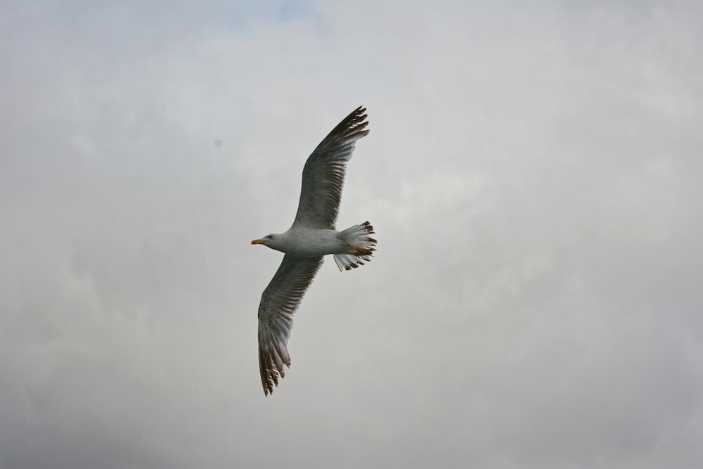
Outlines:
[[344,172],[352,158],[354,143],[368,134],[366,108],[359,106],[315,148],[303,168],[296,224],[335,228],[342,199]]

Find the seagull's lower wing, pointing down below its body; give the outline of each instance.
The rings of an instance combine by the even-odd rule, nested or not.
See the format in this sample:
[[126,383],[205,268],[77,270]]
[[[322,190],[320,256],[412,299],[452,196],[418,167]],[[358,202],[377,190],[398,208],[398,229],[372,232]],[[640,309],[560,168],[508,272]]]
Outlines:
[[285,255],[259,303],[259,369],[264,394],[278,386],[278,375],[285,375],[283,365],[290,368],[288,338],[293,327],[293,313],[322,265],[322,257]]

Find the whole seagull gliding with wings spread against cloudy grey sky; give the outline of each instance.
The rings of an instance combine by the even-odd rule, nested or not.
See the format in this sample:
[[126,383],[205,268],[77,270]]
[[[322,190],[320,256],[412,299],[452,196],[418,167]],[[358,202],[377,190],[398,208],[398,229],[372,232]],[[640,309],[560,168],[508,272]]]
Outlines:
[[366,108],[359,106],[344,117],[305,162],[290,229],[252,241],[285,253],[259,303],[259,371],[265,396],[278,386],[278,376],[285,376],[283,365],[290,368],[287,345],[293,314],[325,255],[334,255],[342,271],[369,262],[375,251],[377,241],[370,237],[375,233],[368,221],[344,231],[335,229],[347,162],[356,141],[368,135],[365,113]]

